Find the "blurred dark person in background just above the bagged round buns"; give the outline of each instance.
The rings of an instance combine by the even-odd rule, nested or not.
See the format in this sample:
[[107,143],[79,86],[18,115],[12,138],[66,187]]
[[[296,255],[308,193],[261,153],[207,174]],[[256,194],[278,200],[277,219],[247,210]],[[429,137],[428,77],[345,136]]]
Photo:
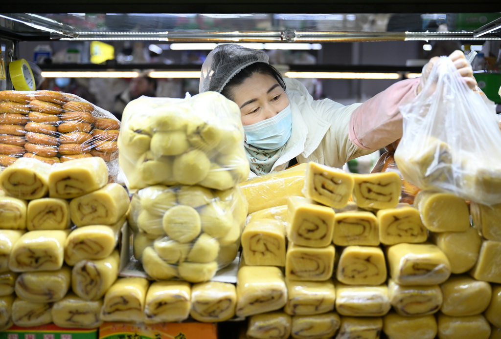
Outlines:
[[115,97],[113,115],[122,120],[122,113],[125,106],[130,101],[137,99],[141,95],[156,96],[157,80],[146,74],[130,79],[129,87]]

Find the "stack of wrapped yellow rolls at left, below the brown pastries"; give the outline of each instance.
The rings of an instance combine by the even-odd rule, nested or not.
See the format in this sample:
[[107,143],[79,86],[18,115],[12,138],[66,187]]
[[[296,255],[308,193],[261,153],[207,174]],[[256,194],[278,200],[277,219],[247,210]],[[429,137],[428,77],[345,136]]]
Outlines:
[[0,173],[0,328],[95,328],[118,277],[129,194],[103,158],[19,157]]

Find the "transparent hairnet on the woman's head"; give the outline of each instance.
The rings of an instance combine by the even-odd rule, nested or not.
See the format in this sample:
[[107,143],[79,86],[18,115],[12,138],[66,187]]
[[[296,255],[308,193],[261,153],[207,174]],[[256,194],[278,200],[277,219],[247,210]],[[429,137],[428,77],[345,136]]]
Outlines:
[[210,51],[202,64],[200,93],[207,90],[220,93],[236,73],[255,62],[268,63],[268,54],[236,44],[218,45]]

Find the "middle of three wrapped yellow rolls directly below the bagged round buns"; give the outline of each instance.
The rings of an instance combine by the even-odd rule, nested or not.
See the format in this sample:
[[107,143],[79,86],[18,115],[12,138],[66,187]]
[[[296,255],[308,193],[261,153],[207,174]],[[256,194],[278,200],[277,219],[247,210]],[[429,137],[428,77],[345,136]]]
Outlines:
[[144,305],[145,323],[175,322],[189,315],[191,287],[186,281],[151,283]]

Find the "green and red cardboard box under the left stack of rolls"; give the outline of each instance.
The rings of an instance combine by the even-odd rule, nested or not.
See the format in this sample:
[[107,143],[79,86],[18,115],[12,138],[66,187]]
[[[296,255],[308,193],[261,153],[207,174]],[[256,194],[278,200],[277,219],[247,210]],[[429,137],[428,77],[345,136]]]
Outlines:
[[54,324],[20,327],[0,332],[0,339],[97,339],[98,328],[63,328]]

